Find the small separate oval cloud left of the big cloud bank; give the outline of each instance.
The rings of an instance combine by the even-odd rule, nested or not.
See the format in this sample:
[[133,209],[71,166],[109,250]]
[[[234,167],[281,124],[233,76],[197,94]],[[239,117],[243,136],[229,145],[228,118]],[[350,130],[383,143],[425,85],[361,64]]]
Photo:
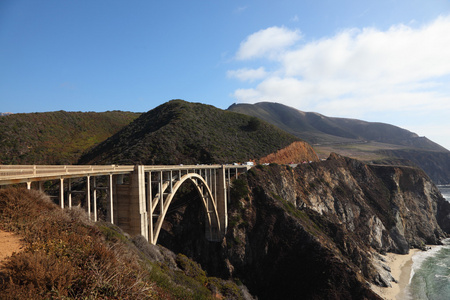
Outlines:
[[269,27],[251,34],[243,41],[236,54],[238,60],[259,57],[275,57],[280,50],[293,45],[301,39],[297,30],[284,27]]

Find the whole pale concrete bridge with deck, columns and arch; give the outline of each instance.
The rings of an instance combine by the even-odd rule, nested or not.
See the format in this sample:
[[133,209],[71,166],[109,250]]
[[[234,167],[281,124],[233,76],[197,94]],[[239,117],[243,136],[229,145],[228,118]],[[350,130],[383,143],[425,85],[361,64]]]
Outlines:
[[[84,193],[88,216],[98,220],[98,191],[106,191],[106,221],[156,244],[170,204],[179,188],[191,182],[205,209],[206,238],[219,241],[228,226],[231,179],[246,165],[0,165],[0,186],[26,184],[44,191],[44,182],[59,181],[59,204],[72,207],[72,195]],[[77,184],[74,184],[77,183]],[[75,190],[74,186],[84,186]],[[67,196],[67,197],[66,197]]]

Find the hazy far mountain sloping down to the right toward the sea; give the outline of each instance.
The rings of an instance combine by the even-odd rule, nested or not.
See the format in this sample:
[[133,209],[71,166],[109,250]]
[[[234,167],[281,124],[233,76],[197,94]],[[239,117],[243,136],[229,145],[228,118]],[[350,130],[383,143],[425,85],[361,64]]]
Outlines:
[[270,102],[233,104],[228,110],[278,126],[312,144],[321,157],[336,152],[373,163],[415,164],[436,183],[450,182],[450,151],[397,126],[327,117]]

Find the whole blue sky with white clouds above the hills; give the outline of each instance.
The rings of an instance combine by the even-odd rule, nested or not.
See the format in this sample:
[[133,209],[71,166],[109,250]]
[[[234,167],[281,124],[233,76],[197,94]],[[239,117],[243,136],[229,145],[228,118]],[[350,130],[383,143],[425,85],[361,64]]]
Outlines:
[[1,0],[0,112],[279,102],[450,149],[450,2]]

